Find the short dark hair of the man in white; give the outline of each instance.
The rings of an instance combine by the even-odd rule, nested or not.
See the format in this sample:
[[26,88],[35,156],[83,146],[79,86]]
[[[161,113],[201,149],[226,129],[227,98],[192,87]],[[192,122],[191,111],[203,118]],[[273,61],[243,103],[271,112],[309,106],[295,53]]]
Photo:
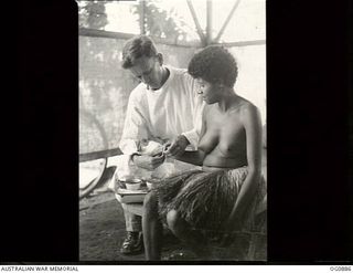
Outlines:
[[138,35],[128,40],[122,48],[122,69],[130,69],[135,60],[141,56],[156,56],[157,49],[152,39],[147,35]]

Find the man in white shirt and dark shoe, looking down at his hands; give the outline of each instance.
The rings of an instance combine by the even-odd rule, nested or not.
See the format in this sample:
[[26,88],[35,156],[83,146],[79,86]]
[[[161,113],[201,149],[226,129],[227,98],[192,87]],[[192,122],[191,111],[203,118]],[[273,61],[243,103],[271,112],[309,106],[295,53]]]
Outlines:
[[[163,64],[163,55],[146,35],[128,40],[122,49],[122,67],[129,70],[141,83],[131,92],[125,119],[120,149],[130,155],[129,164],[154,170],[164,156],[139,154],[142,140],[168,143],[168,153],[179,156],[186,149],[195,149],[201,129],[204,106],[197,96],[196,82],[186,70]],[[174,170],[194,168],[174,162]],[[127,237],[121,245],[122,254],[142,251],[141,217],[125,210]]]

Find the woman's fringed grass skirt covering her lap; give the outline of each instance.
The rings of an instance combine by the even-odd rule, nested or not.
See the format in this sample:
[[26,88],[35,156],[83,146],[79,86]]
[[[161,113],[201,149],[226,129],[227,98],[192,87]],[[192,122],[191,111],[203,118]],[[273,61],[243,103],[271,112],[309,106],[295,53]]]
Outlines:
[[[222,231],[247,175],[248,168],[242,167],[214,172],[191,170],[168,178],[153,189],[158,195],[162,221],[165,221],[170,210],[176,210],[192,229]],[[245,212],[242,231],[258,231],[255,216],[265,195],[261,178]]]

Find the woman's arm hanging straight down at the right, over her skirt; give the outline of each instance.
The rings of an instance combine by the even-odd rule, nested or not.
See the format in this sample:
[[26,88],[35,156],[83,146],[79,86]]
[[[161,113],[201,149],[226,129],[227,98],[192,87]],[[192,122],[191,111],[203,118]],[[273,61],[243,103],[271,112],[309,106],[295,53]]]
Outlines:
[[248,105],[240,112],[240,119],[246,132],[248,175],[240,188],[238,198],[229,216],[229,228],[239,228],[247,206],[256,192],[257,181],[261,176],[261,119],[256,106]]

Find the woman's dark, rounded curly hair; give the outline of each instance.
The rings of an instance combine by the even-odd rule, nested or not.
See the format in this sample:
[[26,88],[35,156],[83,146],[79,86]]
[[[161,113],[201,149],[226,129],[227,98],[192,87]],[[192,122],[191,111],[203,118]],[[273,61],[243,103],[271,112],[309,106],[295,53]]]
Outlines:
[[233,88],[238,75],[235,57],[221,45],[208,45],[199,51],[190,61],[189,74],[208,83],[223,83]]

